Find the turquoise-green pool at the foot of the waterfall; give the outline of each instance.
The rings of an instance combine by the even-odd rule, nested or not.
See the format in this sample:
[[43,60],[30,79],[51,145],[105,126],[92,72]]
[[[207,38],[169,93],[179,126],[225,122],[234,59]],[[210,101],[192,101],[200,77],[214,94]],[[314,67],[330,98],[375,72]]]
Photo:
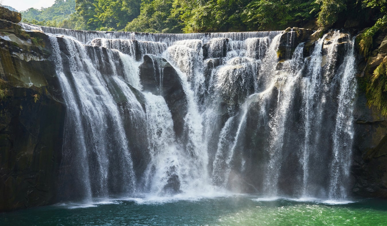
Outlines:
[[251,195],[57,204],[0,214],[1,225],[387,225],[387,202],[265,201]]

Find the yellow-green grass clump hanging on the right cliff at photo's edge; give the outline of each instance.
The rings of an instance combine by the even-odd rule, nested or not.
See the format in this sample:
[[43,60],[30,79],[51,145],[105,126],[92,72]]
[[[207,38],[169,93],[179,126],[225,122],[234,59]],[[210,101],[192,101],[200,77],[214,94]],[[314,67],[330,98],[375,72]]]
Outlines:
[[371,82],[367,84],[367,104],[381,111],[382,116],[387,116],[387,62],[382,62],[373,71]]

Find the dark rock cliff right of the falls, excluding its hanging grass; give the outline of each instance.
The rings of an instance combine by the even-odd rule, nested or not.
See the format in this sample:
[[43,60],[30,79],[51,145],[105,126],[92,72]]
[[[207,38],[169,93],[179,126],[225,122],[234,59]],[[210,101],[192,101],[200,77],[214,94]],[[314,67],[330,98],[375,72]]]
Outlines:
[[[387,198],[387,120],[376,107],[368,107],[366,85],[373,71],[387,60],[387,34],[374,39],[368,61],[360,54],[359,97],[354,110],[354,194]],[[384,75],[385,76],[385,75]]]

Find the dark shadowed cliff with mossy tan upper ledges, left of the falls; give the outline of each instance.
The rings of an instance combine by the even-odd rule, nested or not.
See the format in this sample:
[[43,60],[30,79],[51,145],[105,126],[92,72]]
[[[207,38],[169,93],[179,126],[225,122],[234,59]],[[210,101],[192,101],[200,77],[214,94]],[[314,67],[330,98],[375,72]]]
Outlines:
[[55,202],[65,108],[49,47],[0,21],[0,212]]

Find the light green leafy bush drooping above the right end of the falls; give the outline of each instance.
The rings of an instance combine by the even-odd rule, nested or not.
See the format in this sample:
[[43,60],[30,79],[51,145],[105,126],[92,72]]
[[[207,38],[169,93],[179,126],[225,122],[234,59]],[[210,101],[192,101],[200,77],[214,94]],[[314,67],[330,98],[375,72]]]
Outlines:
[[331,27],[339,18],[339,13],[346,9],[345,0],[316,0],[321,3],[317,25],[319,27]]

